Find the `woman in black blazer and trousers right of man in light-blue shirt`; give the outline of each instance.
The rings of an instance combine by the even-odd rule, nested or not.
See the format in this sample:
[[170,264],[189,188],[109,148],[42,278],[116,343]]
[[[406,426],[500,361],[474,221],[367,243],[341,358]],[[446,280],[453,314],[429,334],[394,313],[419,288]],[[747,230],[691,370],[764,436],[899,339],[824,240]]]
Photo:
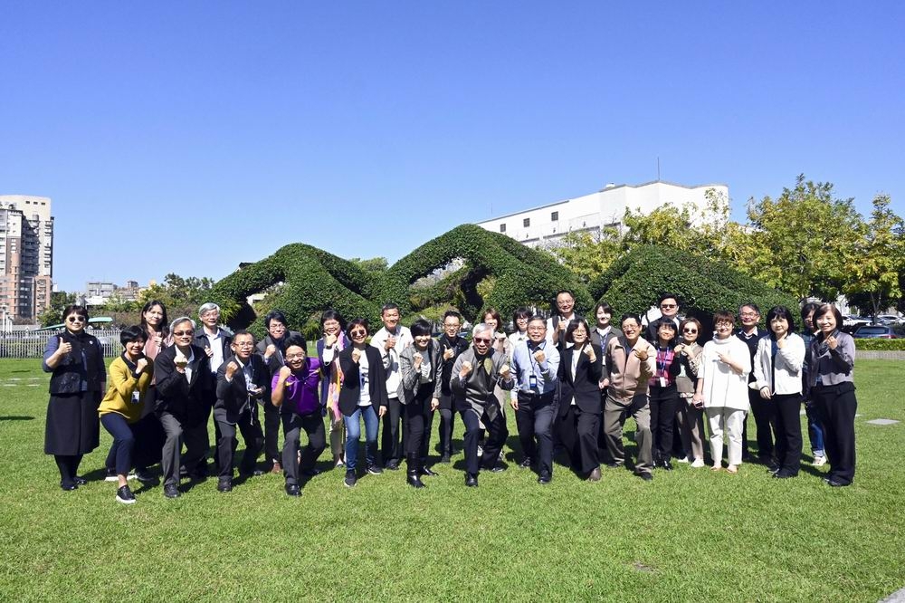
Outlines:
[[597,435],[603,404],[598,382],[604,352],[591,343],[584,319],[569,322],[566,346],[559,361],[559,437],[572,459],[572,469],[586,479],[600,479]]

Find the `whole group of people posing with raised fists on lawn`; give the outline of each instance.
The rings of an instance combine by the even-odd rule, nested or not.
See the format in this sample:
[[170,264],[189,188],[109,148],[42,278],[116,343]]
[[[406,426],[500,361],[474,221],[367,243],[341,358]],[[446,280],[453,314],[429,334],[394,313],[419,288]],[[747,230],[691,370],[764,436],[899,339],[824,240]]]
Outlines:
[[[70,306],[65,330],[44,354],[43,368],[52,372],[45,453],[54,455],[62,489],[76,489],[84,483],[82,455],[99,445],[100,423],[113,437],[106,472],[120,503],[135,502],[129,479],[157,483],[148,470],[156,463],[163,493],[176,498],[182,477],[208,475],[213,415],[220,492],[233,490],[241,434],[239,480],[281,473],[285,492],[299,496],[304,479],[319,473],[328,429],[332,462],[345,467],[346,486],[405,461],[406,482],[423,488],[422,478],[435,474],[428,463],[433,416],[440,416],[440,463],[449,463],[458,414],[465,484],[476,487],[481,469],[506,469],[511,409],[519,467],[533,469],[538,483],[552,480],[557,450],[583,479],[600,480],[602,466],[628,465],[650,481],[655,469],[671,471],[673,460],[706,466],[705,419],[711,469],[723,468],[728,442],[725,470],[738,473],[749,456],[750,414],[758,459],[782,479],[800,469],[804,403],[813,464],[828,460],[832,486],[852,483],[854,344],[839,330],[834,305],[805,304],[800,334],[795,315],[782,306],[767,312],[766,330],[758,327],[757,305],[746,303],[738,310],[740,327],[735,313],[719,311],[705,333],[698,319],[679,319],[676,295],[662,295],[658,305],[660,318],[646,326],[635,314],[616,326],[612,308],[601,302],[592,325],[576,313],[570,292],[558,292],[551,318],[519,308],[507,335],[490,309],[471,340],[462,337],[456,311],[445,313],[434,339],[429,321],[402,326],[393,303],[382,308],[383,326],[373,333],[366,319],[346,323],[328,310],[309,355],[305,338],[288,329],[280,311],[267,314],[267,336],[256,341],[248,331],[219,326],[214,303],[201,306],[199,325],[187,316],[167,321],[164,304],[152,301],[140,324],[122,331],[123,353],[110,365],[109,384],[100,344],[85,330],[88,311]],[[629,416],[636,426],[633,463],[623,444]],[[358,471],[362,424],[365,466]]]

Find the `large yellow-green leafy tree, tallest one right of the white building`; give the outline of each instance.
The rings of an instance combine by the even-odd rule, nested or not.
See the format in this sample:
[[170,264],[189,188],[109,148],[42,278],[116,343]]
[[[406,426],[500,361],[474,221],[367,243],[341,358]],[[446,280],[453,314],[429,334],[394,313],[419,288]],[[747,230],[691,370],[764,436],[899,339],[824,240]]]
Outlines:
[[832,184],[804,175],[776,199],[751,199],[748,226],[738,268],[799,300],[839,295],[863,229],[852,199],[836,199]]

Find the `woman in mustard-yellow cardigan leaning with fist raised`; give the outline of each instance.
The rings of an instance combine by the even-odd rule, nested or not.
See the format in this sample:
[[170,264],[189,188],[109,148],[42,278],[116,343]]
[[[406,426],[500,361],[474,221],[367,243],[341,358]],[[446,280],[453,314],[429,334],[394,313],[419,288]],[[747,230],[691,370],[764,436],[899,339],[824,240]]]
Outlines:
[[100,424],[113,436],[110,452],[116,456],[116,500],[123,504],[135,503],[135,494],[129,490],[126,479],[135,445],[132,429],[141,418],[153,375],[153,365],[145,358],[147,339],[145,331],[138,326],[124,329],[119,334],[125,351],[110,364],[110,386],[98,409]]

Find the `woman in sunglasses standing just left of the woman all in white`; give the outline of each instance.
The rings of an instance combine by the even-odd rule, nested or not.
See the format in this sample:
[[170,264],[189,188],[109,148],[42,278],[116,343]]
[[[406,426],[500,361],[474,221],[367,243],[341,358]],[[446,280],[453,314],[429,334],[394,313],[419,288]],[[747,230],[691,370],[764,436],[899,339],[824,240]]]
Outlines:
[[[704,404],[695,403],[694,388],[698,383],[700,353],[704,351],[698,343],[700,321],[687,318],[681,321],[681,343],[674,349],[679,355],[679,374],[676,375],[676,389],[679,390],[679,437],[685,451],[680,463],[688,463],[695,469],[704,466]],[[691,455],[691,458],[689,456]]]

